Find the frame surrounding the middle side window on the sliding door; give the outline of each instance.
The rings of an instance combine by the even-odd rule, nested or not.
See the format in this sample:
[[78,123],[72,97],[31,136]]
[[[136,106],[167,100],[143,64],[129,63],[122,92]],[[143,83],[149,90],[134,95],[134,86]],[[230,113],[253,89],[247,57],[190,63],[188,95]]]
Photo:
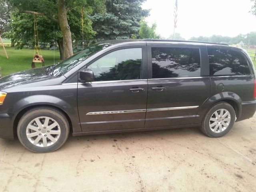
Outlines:
[[[206,50],[206,46],[204,44],[183,44],[183,43],[173,43],[173,42],[151,42],[147,46],[148,50],[148,79],[152,78],[152,48],[194,48],[199,49],[200,54],[200,76],[198,77],[170,77],[170,78],[160,78],[160,79],[182,79],[182,78],[202,78],[205,76],[209,76],[209,60],[208,54]],[[206,57],[207,56],[207,57]]]

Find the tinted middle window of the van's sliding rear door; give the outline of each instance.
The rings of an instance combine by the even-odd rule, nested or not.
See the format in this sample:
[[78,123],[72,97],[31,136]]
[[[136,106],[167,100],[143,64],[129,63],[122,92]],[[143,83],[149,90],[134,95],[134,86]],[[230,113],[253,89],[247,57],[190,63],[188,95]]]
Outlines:
[[152,78],[200,76],[199,49],[152,48]]

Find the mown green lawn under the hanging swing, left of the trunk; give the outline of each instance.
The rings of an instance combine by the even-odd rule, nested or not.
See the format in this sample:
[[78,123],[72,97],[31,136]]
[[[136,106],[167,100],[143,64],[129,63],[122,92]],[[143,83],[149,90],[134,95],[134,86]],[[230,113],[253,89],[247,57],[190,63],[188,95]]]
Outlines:
[[[6,47],[9,59],[6,58],[2,46],[0,46],[0,67],[2,68],[2,76],[12,74],[14,72],[31,69],[34,50],[21,49],[17,50],[13,47]],[[54,64],[54,51],[42,50],[45,66]],[[55,50],[55,63],[60,61],[60,53]],[[36,63],[36,67],[41,67],[41,63]]]

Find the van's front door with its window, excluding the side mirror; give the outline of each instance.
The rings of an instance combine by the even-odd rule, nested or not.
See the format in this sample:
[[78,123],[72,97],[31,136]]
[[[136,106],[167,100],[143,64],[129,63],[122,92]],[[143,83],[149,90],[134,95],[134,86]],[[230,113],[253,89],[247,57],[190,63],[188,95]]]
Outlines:
[[[83,132],[143,128],[148,82],[146,47],[110,51],[87,68],[95,81],[78,83],[78,112]],[[143,59],[142,59],[143,58]]]

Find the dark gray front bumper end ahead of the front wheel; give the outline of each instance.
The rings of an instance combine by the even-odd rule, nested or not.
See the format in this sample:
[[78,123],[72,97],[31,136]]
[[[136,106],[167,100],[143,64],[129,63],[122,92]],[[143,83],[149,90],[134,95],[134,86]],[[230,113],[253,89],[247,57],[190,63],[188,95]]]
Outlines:
[[14,138],[12,118],[12,114],[0,113],[0,138]]

